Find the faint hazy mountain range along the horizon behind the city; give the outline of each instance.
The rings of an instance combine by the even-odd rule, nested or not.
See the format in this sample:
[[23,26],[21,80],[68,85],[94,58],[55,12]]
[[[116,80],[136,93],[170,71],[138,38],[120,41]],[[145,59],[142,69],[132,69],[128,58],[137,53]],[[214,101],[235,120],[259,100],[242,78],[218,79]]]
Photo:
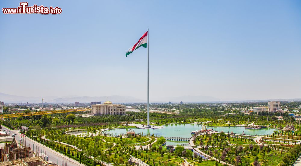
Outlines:
[[[146,103],[146,99],[138,99],[132,96],[75,96],[75,97],[58,97],[58,96],[38,96],[38,97],[29,97],[29,96],[15,96],[9,95],[5,93],[0,93],[0,101],[5,103],[41,103],[42,98],[44,98],[44,102],[47,103],[74,103],[74,102],[104,102],[110,100],[113,103]],[[255,99],[222,99],[222,102],[265,102],[265,101],[300,101],[301,98],[298,99],[263,99],[263,100],[255,100]],[[179,97],[160,97],[156,100],[151,100],[151,103],[180,103],[183,101],[184,103],[202,103],[202,102],[220,102],[219,98],[215,98],[212,96],[179,96]]]

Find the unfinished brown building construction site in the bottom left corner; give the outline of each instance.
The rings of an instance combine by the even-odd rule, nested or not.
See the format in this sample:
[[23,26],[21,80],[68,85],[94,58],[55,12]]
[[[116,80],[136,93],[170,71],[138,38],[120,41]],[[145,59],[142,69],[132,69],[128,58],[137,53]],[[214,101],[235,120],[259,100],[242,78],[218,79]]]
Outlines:
[[0,166],[48,166],[44,160],[45,156],[34,156],[30,147],[21,146],[13,139],[11,143],[6,143],[4,148],[0,148]]

